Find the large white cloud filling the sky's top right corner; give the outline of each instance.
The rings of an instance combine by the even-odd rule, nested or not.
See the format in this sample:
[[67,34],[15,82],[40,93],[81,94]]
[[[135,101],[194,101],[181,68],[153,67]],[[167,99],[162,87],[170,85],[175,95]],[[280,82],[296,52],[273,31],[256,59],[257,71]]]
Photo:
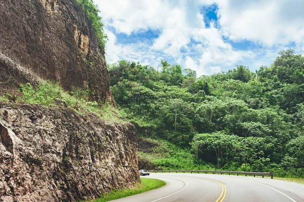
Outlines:
[[302,43],[302,0],[216,0],[222,33],[234,41],[247,39],[262,45]]

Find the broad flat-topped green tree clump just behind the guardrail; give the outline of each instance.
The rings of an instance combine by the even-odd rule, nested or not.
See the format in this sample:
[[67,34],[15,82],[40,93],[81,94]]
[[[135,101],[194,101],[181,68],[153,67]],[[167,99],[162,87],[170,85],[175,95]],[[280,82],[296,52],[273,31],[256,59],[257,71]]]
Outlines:
[[198,157],[207,162],[217,163],[218,168],[230,161],[249,167],[254,164],[255,167],[258,167],[256,165],[258,160],[265,159],[264,154],[274,146],[271,138],[243,138],[222,131],[197,134],[191,144]]

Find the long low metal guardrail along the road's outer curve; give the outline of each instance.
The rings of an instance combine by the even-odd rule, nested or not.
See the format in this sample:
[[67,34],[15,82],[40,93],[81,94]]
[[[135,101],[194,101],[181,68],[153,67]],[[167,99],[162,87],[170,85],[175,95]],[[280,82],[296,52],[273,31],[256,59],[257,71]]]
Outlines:
[[254,172],[238,172],[238,171],[195,171],[195,170],[160,170],[160,171],[149,171],[149,172],[150,173],[170,173],[170,172],[172,172],[172,173],[174,173],[174,172],[185,173],[185,172],[188,172],[188,173],[206,173],[206,174],[207,173],[213,173],[213,174],[220,173],[221,175],[224,173],[224,174],[229,174],[229,175],[230,174],[237,174],[237,176],[239,176],[239,174],[240,174],[240,175],[245,175],[245,176],[253,175],[253,177],[262,176],[262,178],[264,178],[264,176],[271,176],[271,179],[274,178],[273,172],[270,172],[270,173],[254,173]]

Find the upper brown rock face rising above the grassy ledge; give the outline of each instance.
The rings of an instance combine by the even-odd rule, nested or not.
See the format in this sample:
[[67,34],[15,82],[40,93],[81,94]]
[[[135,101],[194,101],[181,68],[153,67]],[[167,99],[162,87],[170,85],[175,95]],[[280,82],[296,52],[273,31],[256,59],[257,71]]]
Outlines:
[[0,88],[35,82],[20,68],[8,70],[11,60],[65,90],[89,88],[92,99],[113,102],[104,53],[75,0],[1,0],[0,27]]

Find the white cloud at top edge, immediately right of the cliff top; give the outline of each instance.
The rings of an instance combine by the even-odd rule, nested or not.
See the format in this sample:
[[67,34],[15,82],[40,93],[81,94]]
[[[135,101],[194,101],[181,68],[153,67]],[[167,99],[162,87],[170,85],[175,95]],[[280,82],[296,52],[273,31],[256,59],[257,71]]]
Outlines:
[[160,29],[172,8],[167,1],[95,0],[107,26],[128,35],[149,28]]

